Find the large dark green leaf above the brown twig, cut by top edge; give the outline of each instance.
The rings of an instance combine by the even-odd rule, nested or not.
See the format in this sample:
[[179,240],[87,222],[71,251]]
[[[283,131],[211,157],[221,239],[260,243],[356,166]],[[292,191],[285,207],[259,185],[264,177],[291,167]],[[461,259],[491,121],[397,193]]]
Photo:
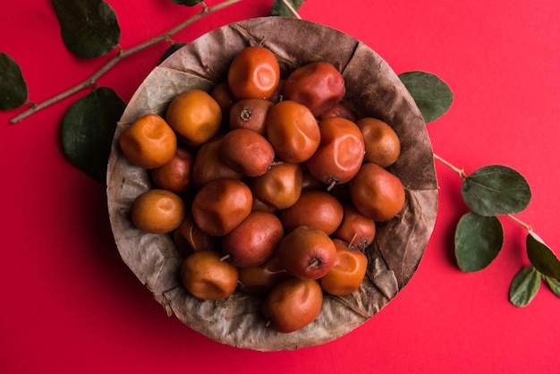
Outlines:
[[116,13],[103,0],[51,0],[64,45],[75,55],[98,57],[121,39]]

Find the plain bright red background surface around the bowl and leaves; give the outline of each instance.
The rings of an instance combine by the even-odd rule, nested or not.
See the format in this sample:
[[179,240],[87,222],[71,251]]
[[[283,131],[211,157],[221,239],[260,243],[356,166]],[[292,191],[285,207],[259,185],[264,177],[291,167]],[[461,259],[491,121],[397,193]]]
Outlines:
[[[198,12],[170,0],[109,0],[132,47]],[[272,1],[244,0],[174,37],[190,41],[231,21],[267,15]],[[216,1],[208,0],[208,4]],[[435,153],[464,167],[503,164],[531,186],[518,215],[560,251],[560,3],[556,0],[308,0],[304,19],[365,42],[395,72],[436,73],[454,91],[428,132]],[[128,101],[165,44],[118,64],[99,81]],[[109,56],[84,61],[60,38],[47,0],[4,4],[0,51],[21,65],[30,100],[84,80]],[[70,165],[60,123],[75,98],[19,124],[0,113],[0,370],[112,372],[558,372],[560,300],[542,285],[526,308],[508,302],[529,264],[526,232],[504,218],[505,247],[465,274],[453,254],[466,211],[459,177],[437,163],[437,225],[415,276],[373,319],[335,342],[258,353],[218,344],[167,318],[119,257],[105,186]]]

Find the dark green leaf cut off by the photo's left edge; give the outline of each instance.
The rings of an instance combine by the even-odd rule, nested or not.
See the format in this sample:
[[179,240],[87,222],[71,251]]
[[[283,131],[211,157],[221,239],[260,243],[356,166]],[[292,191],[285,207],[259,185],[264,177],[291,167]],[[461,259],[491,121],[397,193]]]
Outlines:
[[27,101],[27,83],[21,68],[10,55],[0,52],[0,109],[9,110]]

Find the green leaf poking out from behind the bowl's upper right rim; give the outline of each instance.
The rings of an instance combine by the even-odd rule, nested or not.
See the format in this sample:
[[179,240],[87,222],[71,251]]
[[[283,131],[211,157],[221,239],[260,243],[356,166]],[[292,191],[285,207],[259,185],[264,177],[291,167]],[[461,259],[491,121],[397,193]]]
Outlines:
[[411,93],[424,122],[437,120],[453,103],[453,92],[445,81],[429,72],[403,72],[399,78]]

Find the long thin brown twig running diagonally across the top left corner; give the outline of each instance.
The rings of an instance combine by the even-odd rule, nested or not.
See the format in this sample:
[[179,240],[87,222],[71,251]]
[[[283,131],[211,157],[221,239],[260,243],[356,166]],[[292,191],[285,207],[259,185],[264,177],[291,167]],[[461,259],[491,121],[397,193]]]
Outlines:
[[42,109],[46,108],[47,106],[52,106],[53,104],[64,100],[64,98],[68,98],[68,97],[74,95],[75,93],[80,92],[82,89],[87,89],[91,86],[96,85],[98,79],[101,76],[103,76],[106,72],[111,70],[116,64],[123,61],[123,59],[125,59],[126,57],[134,55],[134,54],[140,52],[142,49],[151,47],[151,46],[153,46],[153,45],[155,45],[155,44],[157,44],[161,41],[170,40],[172,35],[174,35],[177,32],[183,30],[187,26],[190,26],[192,23],[194,23],[196,21],[199,21],[205,15],[207,15],[209,13],[217,12],[221,9],[224,9],[227,6],[239,3],[241,1],[242,0],[226,0],[224,3],[217,4],[217,5],[210,6],[210,7],[208,7],[206,4],[202,4],[202,11],[200,13],[195,14],[194,16],[189,18],[188,20],[183,21],[182,23],[175,26],[173,29],[166,31],[163,34],[161,34],[161,35],[159,35],[155,38],[151,38],[151,39],[149,39],[149,40],[147,40],[143,43],[140,43],[137,46],[131,47],[129,49],[122,49],[121,47],[117,46],[117,48],[119,49],[118,54],[115,55],[115,57],[113,57],[111,60],[109,60],[105,65],[101,66],[101,68],[97,72],[93,73],[87,80],[82,81],[81,83],[73,86],[71,89],[67,89],[64,92],[54,96],[53,98],[48,98],[47,100],[45,100],[41,103],[38,103],[36,105],[31,106],[29,109],[23,111],[20,115],[16,115],[15,117],[13,117],[10,120],[10,123],[19,123],[23,119],[29,117],[30,115],[33,115],[34,113],[38,112],[39,110],[42,110]]

